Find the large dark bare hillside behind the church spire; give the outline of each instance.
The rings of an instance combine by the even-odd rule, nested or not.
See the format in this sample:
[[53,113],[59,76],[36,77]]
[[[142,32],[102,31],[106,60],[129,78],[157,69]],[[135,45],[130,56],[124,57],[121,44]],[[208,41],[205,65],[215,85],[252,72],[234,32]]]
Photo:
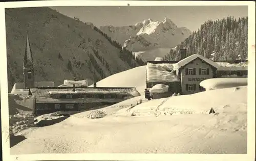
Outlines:
[[8,89],[23,82],[23,57],[29,35],[35,81],[93,81],[139,66],[132,52],[90,24],[48,7],[6,9]]

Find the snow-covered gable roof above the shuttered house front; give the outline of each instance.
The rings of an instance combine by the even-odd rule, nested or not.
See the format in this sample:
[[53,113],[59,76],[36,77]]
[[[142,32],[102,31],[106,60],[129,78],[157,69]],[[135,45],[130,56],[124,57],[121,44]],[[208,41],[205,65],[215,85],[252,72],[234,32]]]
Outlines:
[[201,60],[205,61],[206,63],[210,64],[211,66],[214,66],[217,69],[220,67],[219,64],[217,64],[216,62],[211,61],[211,60],[209,60],[209,59],[207,59],[207,58],[205,58],[205,57],[196,53],[196,54],[191,55],[191,56],[179,61],[178,63],[176,63],[175,64],[175,69],[177,70],[177,69],[187,65],[189,62],[191,62],[191,61],[193,61],[197,58],[200,58]]

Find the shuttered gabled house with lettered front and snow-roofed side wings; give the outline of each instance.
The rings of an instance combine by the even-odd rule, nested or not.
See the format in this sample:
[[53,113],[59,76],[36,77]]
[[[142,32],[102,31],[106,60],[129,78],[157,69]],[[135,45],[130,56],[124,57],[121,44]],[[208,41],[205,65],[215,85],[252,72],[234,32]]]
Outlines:
[[[183,53],[184,54],[184,53]],[[183,57],[184,58],[184,57]],[[146,66],[146,88],[168,85],[168,93],[193,94],[205,91],[199,84],[216,77],[247,77],[247,62],[214,62],[194,54],[181,61],[149,61]],[[165,94],[166,95],[166,94]]]

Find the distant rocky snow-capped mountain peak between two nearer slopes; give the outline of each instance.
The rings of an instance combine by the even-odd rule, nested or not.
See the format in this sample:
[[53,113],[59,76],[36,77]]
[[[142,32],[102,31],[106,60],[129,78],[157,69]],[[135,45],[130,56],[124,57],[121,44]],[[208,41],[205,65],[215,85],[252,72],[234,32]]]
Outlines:
[[129,26],[101,26],[100,29],[132,51],[175,47],[191,34],[184,27],[178,28],[168,18],[162,21],[146,19]]

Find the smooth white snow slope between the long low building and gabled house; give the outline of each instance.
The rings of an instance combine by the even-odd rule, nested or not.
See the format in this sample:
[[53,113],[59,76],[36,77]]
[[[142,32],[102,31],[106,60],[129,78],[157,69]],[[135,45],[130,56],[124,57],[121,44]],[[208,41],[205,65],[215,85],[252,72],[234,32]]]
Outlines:
[[143,94],[145,82],[146,66],[140,66],[108,76],[97,82],[97,87],[135,87],[140,94]]

